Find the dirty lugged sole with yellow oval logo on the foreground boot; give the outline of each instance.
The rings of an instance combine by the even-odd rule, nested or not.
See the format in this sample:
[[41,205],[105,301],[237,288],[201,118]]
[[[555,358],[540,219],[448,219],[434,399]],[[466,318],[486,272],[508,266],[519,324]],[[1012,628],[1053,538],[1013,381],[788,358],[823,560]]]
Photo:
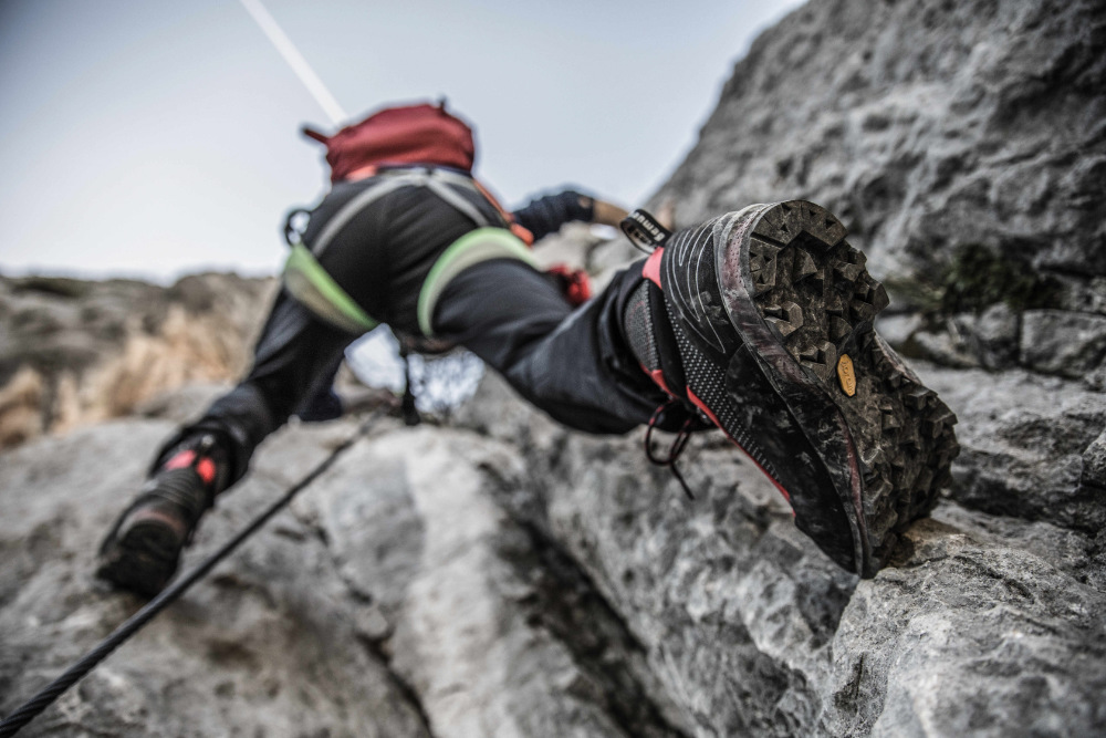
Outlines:
[[[873,576],[951,482],[956,416],[873,330],[886,291],[828,210],[803,200],[754,206],[717,221],[713,235],[726,243],[714,267],[730,323],[825,467],[848,518],[854,570]],[[761,401],[757,382],[730,374],[738,405]],[[794,440],[794,428],[757,434],[780,436],[766,446]],[[826,549],[823,522],[810,519],[825,500],[804,499],[825,491],[782,488],[796,524]]]

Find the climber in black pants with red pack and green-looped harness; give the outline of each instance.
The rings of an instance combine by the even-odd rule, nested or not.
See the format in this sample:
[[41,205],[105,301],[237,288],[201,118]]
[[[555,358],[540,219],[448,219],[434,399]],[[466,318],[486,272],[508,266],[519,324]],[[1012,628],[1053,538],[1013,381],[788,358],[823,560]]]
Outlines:
[[467,347],[571,428],[676,432],[669,456],[650,453],[674,469],[689,433],[720,428],[862,576],[949,484],[956,418],[875,333],[886,292],[826,209],[751,205],[672,235],[635,212],[627,227],[659,246],[587,299],[581,273],[542,272],[530,243],[568,221],[618,225],[622,208],[567,190],[508,212],[442,104],[305,133],[327,147],[332,187],[289,219],[253,366],[156,455],[101,578],[160,591],[257,446],[315,412],[345,349],[380,323]]

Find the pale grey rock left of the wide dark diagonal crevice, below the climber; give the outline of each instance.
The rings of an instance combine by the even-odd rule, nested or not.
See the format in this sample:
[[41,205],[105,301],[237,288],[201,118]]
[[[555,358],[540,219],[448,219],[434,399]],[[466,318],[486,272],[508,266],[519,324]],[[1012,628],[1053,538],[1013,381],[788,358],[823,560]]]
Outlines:
[[[186,563],[355,427],[270,438]],[[169,430],[117,422],[0,457],[0,713],[138,606],[92,554]],[[523,468],[471,433],[379,420],[25,735],[688,735],[578,568],[494,505]]]

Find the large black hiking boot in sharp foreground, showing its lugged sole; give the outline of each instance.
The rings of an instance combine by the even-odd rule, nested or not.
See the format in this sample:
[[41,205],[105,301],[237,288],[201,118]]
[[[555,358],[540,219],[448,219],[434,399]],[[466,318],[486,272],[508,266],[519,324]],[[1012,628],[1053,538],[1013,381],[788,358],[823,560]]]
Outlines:
[[873,330],[888,300],[864,264],[826,209],[754,205],[655,251],[626,323],[644,368],[753,459],[800,530],[873,576],[959,446],[956,416]]

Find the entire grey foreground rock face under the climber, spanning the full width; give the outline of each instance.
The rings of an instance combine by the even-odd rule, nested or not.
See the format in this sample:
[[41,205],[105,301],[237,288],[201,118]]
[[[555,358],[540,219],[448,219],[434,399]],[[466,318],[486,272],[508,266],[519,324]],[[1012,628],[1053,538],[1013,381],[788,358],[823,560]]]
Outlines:
[[[916,368],[964,450],[874,580],[717,434],[685,456],[688,501],[638,434],[566,432],[489,376],[453,428],[379,419],[27,735],[1100,731],[1106,396]],[[187,562],[355,427],[267,441]],[[116,420],[0,457],[0,710],[138,606],[92,580],[92,553],[170,429]]]

